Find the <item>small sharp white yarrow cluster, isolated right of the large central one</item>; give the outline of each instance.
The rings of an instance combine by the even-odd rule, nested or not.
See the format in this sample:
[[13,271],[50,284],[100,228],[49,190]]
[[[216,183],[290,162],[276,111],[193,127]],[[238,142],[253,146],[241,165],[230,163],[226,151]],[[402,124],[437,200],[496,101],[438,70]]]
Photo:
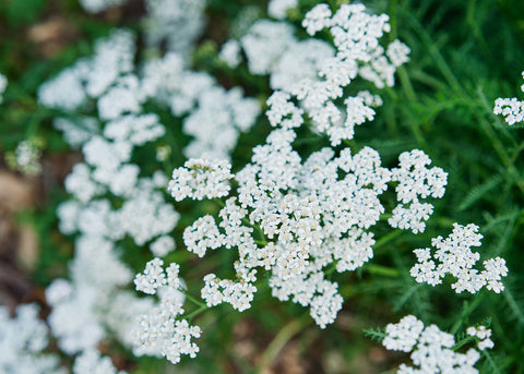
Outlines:
[[454,224],[453,231],[446,239],[438,237],[431,240],[431,245],[437,249],[434,254],[431,254],[428,248],[414,251],[418,263],[409,273],[417,282],[433,287],[440,285],[445,275],[450,274],[456,278],[451,288],[457,293],[475,293],[483,287],[499,293],[504,290],[501,278],[508,275],[505,261],[500,257],[489,258],[484,262],[484,270],[473,268],[480,254],[473,252],[471,248],[480,246],[480,239],[483,236],[478,233],[478,226]]

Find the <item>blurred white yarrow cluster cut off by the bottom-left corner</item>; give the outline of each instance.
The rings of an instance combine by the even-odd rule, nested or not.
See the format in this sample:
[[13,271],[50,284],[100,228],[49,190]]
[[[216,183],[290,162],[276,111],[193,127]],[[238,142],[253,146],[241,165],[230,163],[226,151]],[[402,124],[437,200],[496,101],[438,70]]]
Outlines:
[[45,352],[49,331],[38,312],[36,304],[23,304],[11,318],[0,305],[0,373],[66,374],[59,357]]

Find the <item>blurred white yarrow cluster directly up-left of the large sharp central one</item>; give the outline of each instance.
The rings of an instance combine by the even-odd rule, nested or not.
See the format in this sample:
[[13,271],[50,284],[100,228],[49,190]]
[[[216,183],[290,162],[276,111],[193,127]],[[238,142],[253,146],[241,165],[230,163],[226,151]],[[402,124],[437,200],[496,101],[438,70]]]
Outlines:
[[172,52],[145,64],[142,86],[174,116],[186,116],[182,131],[194,138],[184,148],[188,157],[206,153],[228,158],[239,134],[254,124],[261,110],[257,99],[243,97],[240,87],[224,89],[210,75],[187,69]]

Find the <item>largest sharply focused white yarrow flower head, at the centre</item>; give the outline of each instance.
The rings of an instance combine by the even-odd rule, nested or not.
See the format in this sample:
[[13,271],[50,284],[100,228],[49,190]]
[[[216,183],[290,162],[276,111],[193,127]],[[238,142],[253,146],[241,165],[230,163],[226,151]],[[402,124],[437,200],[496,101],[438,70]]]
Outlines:
[[[369,147],[355,155],[345,149],[340,157],[324,148],[302,164],[290,145],[294,140],[291,130],[274,130],[265,145],[253,149],[251,164],[235,176],[238,196],[226,201],[218,221],[199,218],[183,240],[199,256],[218,248],[238,249],[238,279],[204,277],[202,298],[209,306],[227,302],[239,311],[250,307],[257,268],[263,267],[271,272],[275,298],[310,306],[314,321],[325,327],[343,300],[338,285],[325,279],[323,269],[336,262],[337,272],[355,270],[372,257],[374,240],[367,229],[384,212],[378,196],[391,172]],[[176,169],[170,191],[177,200],[200,198],[204,193],[191,196],[194,188],[188,186],[198,181],[206,183],[188,168]],[[257,239],[260,233],[253,227],[270,240],[266,244]]]

